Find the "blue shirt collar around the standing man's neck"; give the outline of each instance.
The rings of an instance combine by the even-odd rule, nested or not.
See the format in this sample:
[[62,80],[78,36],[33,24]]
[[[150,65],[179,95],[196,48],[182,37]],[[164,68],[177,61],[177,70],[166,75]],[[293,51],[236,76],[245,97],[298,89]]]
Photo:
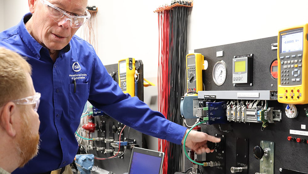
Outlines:
[[[21,21],[17,25],[17,32],[19,33],[19,36],[21,37],[22,41],[32,51],[35,57],[40,58],[40,50],[44,47],[30,35],[25,26],[25,23],[28,22],[31,17],[31,13],[27,13],[22,17]],[[70,49],[71,46],[70,43],[68,43],[60,52],[67,53]]]

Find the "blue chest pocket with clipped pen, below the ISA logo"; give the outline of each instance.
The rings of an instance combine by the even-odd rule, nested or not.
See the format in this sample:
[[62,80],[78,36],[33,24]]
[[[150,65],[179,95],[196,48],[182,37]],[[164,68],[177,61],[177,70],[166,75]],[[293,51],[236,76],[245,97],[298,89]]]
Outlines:
[[[88,83],[77,83],[76,87],[74,87],[74,84],[70,84],[69,88],[70,118],[72,121],[78,121],[89,97]],[[74,89],[76,90],[75,93]]]

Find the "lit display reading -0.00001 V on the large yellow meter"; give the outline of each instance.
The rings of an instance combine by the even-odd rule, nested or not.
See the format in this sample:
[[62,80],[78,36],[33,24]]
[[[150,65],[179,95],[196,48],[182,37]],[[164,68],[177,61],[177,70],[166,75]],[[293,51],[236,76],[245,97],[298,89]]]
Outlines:
[[303,50],[303,32],[281,35],[281,53]]

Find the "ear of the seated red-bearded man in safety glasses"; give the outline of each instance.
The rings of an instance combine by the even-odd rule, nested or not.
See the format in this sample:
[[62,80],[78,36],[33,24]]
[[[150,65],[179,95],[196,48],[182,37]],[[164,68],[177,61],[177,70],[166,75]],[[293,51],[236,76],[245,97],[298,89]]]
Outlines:
[[16,135],[16,130],[13,126],[18,119],[16,118],[16,109],[17,107],[15,103],[10,101],[6,105],[2,106],[2,109],[0,110],[0,126],[11,137]]

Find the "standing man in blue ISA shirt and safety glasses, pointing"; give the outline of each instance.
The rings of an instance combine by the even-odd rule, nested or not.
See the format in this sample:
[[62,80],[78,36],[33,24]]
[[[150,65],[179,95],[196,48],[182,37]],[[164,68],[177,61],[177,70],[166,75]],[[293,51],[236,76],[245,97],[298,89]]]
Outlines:
[[[0,33],[0,46],[28,57],[34,87],[42,94],[39,155],[13,173],[51,173],[70,164],[78,150],[75,131],[87,100],[140,132],[183,143],[185,127],[124,94],[92,45],[74,35],[90,18],[86,6],[87,0],[29,0],[30,13]],[[198,153],[210,152],[207,140],[220,141],[192,131],[186,145]]]

